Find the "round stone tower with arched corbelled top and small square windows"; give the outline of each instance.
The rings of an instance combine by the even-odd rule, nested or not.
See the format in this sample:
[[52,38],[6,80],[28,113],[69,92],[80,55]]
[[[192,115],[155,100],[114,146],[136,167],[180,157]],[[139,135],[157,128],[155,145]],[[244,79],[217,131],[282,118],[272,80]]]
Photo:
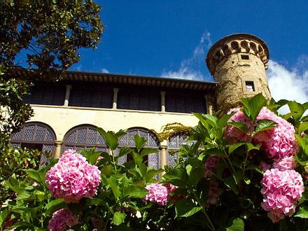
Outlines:
[[269,50],[251,34],[232,34],[216,42],[207,54],[207,67],[216,82],[217,111],[221,114],[239,104],[242,97],[262,93],[271,99],[265,70]]

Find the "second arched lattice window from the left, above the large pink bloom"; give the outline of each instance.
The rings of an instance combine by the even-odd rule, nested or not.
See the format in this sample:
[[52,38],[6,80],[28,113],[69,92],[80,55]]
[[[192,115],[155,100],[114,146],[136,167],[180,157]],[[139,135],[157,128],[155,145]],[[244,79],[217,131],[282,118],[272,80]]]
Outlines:
[[93,125],[80,125],[67,132],[63,139],[62,153],[68,149],[97,148],[97,151],[106,151],[104,138]]

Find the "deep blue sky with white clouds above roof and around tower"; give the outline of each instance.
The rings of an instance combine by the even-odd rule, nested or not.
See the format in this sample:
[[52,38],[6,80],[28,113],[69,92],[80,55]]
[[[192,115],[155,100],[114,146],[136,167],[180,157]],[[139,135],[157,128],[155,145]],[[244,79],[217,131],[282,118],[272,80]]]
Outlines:
[[97,50],[82,50],[71,70],[213,80],[204,61],[211,45],[229,34],[248,33],[269,46],[267,75],[276,99],[308,101],[307,1],[97,3],[105,25],[102,42]]

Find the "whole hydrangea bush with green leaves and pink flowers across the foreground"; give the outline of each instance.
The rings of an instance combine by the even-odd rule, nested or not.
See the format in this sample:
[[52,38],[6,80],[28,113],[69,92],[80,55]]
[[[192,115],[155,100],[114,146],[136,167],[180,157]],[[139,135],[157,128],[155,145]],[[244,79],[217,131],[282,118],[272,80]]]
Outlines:
[[[75,158],[83,157],[69,151],[57,164],[26,170],[25,181],[6,181],[17,197],[1,209],[0,225],[59,230],[61,220],[74,230],[307,230],[307,104],[280,101],[266,109],[260,94],[242,104],[221,118],[196,113],[200,122],[181,147],[179,164],[164,170],[144,164],[155,151],[144,148],[144,138],[134,137],[135,148],[119,148],[125,132],[99,129],[111,153],[83,151],[87,162],[78,165]],[[283,118],[269,111],[286,104],[290,113]],[[132,158],[118,165],[125,155]],[[87,165],[100,172],[91,189],[96,195],[83,184],[99,177],[85,174]],[[71,184],[76,179],[82,182]],[[51,192],[62,190],[52,193],[57,198],[49,181],[58,182]]]

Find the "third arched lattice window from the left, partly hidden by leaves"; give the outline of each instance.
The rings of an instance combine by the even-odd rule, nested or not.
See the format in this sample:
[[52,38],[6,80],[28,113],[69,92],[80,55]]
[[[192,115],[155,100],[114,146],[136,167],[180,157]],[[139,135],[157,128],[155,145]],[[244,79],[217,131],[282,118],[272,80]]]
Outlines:
[[[126,146],[134,148],[134,136],[135,134],[139,134],[140,137],[144,137],[146,139],[145,148],[158,148],[160,142],[158,141],[158,137],[155,136],[152,132],[144,129],[144,128],[130,128],[123,137],[119,140],[119,146]],[[127,156],[123,156],[119,160],[119,164],[123,164],[127,161]],[[149,167],[153,167],[154,169],[160,168],[160,155],[159,153],[149,154],[145,160]]]

